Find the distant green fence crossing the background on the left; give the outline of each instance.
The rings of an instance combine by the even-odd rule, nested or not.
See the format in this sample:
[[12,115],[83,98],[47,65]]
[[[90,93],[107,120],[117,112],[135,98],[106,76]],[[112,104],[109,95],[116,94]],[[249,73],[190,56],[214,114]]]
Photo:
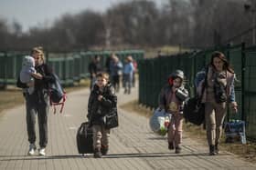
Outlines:
[[[142,50],[125,51],[87,51],[75,53],[46,53],[47,62],[59,75],[62,85],[70,86],[80,79],[89,77],[88,65],[91,58],[95,55],[101,57],[101,66],[104,68],[107,58],[115,53],[123,61],[128,55],[133,59],[140,60],[144,58]],[[19,75],[22,66],[23,56],[29,52],[0,52],[0,86],[15,85],[16,78]]]

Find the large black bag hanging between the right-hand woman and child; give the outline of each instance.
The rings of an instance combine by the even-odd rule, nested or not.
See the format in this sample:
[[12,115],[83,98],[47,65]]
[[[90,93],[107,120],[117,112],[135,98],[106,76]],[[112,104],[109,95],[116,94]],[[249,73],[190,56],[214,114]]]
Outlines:
[[183,115],[187,122],[194,125],[201,125],[205,120],[205,104],[200,102],[200,98],[189,98],[184,105]]

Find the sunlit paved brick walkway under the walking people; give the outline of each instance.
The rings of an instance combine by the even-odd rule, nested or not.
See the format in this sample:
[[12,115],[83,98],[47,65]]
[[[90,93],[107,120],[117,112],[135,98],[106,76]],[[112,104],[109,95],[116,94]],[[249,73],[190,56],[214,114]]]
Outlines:
[[[5,111],[0,118],[0,169],[256,169],[237,156],[221,153],[208,155],[208,147],[184,136],[182,154],[167,149],[165,137],[155,135],[148,119],[119,109],[120,126],[112,130],[109,155],[95,159],[81,156],[76,146],[76,132],[86,120],[89,90],[69,94],[62,115],[48,117],[47,156],[27,156],[28,142],[25,105]],[[118,95],[119,105],[134,100],[132,95]]]

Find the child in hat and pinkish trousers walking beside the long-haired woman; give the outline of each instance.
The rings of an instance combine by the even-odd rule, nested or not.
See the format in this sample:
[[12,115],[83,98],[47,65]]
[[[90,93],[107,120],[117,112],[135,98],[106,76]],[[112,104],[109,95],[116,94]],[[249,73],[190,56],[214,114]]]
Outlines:
[[[182,97],[181,97],[182,96]],[[184,73],[176,70],[168,77],[168,85],[165,85],[159,95],[159,108],[171,115],[168,125],[168,148],[175,149],[176,154],[181,153],[183,108],[188,97],[184,87]]]

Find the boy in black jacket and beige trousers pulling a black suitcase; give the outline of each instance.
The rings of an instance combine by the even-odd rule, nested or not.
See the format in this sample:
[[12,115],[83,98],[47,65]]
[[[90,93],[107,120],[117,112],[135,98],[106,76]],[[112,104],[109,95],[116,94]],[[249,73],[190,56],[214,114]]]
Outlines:
[[94,157],[101,157],[109,148],[110,129],[105,126],[106,115],[117,112],[117,97],[107,73],[97,74],[96,79],[89,97],[87,117],[92,125]]

